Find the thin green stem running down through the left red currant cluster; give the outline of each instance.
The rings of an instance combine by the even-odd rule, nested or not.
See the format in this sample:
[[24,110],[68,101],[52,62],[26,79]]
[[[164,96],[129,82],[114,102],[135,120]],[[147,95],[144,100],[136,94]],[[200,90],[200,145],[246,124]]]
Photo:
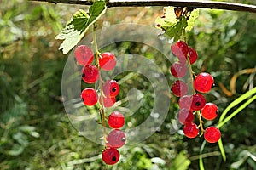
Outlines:
[[[96,24],[94,23],[93,24],[93,43],[94,43],[94,47],[95,47],[95,58],[96,58],[96,66],[97,68],[100,70],[100,65],[99,65],[99,57],[100,57],[100,52],[98,50],[98,47],[97,47],[97,38],[96,38],[96,31],[95,31],[95,28],[96,28]],[[104,102],[103,102],[103,97],[104,97],[104,94],[103,94],[103,88],[102,88],[102,76],[101,76],[101,72],[99,74],[99,89],[100,89],[100,93],[101,93],[101,102],[100,102],[100,105],[101,105],[101,108],[100,108],[100,116],[101,116],[101,120],[102,120],[102,126],[103,126],[103,139],[104,139],[104,145],[105,147],[107,146],[107,141],[106,141],[106,136],[107,136],[107,130],[106,130],[106,121],[105,121],[105,111],[104,111]]]

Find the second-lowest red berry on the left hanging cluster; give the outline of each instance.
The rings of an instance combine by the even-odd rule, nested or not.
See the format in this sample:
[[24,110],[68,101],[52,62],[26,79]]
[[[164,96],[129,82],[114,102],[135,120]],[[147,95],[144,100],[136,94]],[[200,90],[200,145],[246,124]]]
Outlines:
[[108,144],[112,148],[120,148],[125,142],[125,133],[119,129],[113,129],[113,131],[108,134]]

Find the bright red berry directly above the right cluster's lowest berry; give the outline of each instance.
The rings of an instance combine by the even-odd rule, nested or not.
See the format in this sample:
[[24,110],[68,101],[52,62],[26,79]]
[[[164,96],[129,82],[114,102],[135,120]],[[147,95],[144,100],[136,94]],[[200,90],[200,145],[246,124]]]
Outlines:
[[201,110],[201,116],[208,121],[211,121],[217,117],[218,107],[215,104],[207,103]]

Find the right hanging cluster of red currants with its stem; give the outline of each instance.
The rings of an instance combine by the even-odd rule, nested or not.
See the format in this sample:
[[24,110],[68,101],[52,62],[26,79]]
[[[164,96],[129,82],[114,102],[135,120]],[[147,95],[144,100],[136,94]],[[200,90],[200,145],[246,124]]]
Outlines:
[[[195,63],[198,55],[195,48],[189,47],[186,42],[178,41],[171,46],[172,54],[177,56],[178,61],[174,62],[171,66],[171,73],[173,77],[179,78],[176,82],[172,83],[172,93],[180,97],[178,101],[179,111],[178,120],[184,125],[183,133],[188,138],[195,138],[199,135],[201,128],[201,135],[209,143],[218,142],[221,133],[217,127],[203,128],[203,121],[213,120],[217,117],[218,107],[213,103],[207,103],[202,94],[208,93],[214,85],[212,75],[207,72],[201,72],[198,75],[192,71],[191,65]],[[191,79],[193,81],[193,94],[188,94],[188,84],[181,80],[186,76],[189,70]],[[200,94],[201,93],[201,94]],[[194,122],[195,115],[198,117],[199,125]]]

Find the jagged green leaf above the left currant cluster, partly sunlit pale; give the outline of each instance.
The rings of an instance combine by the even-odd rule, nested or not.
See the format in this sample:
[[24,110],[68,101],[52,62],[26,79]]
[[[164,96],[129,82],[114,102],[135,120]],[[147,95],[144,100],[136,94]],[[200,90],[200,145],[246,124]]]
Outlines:
[[63,40],[60,46],[63,54],[67,54],[79,41],[84,37],[88,28],[106,12],[104,1],[96,1],[89,8],[89,14],[80,9],[73,14],[72,19],[67,23],[65,28],[55,38]]

